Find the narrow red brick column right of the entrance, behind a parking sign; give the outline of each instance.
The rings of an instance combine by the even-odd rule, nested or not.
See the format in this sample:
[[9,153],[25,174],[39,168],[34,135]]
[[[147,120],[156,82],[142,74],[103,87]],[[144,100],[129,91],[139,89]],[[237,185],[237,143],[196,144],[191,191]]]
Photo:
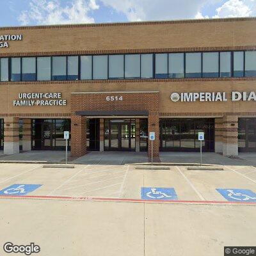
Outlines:
[[[148,138],[149,132],[156,132],[156,140],[153,141],[153,157],[159,157],[159,115],[148,115]],[[151,156],[152,141],[148,139],[148,156]]]

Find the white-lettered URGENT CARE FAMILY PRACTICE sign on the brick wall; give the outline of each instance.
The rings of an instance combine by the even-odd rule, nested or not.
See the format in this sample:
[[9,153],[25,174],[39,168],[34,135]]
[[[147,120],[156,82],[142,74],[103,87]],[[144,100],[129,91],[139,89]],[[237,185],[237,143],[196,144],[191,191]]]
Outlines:
[[67,106],[67,100],[60,92],[19,93],[19,100],[13,100],[13,106]]

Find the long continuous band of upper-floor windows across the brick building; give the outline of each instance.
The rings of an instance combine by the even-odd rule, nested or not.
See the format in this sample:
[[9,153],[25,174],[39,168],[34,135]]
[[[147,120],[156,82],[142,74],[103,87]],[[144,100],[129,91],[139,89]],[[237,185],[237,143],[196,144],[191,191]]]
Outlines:
[[256,51],[0,58],[0,81],[256,77]]

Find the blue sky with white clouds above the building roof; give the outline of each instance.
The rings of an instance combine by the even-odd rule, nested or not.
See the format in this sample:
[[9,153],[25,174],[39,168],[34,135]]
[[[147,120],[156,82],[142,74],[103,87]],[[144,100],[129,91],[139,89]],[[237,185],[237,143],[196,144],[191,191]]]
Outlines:
[[256,16],[256,0],[0,0],[0,27]]

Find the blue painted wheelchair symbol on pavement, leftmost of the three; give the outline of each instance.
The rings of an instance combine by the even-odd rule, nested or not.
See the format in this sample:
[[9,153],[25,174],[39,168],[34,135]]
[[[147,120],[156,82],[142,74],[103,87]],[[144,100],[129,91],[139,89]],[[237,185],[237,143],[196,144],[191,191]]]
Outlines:
[[0,195],[13,195],[13,196],[24,196],[29,192],[34,191],[42,185],[39,184],[13,184],[8,188],[4,188],[0,191]]

